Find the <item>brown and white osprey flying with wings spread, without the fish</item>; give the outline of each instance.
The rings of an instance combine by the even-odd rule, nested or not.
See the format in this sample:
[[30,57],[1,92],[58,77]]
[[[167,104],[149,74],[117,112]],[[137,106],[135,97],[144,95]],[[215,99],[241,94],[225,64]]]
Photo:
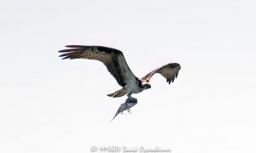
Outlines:
[[60,57],[62,59],[96,59],[106,65],[108,71],[112,74],[115,80],[122,87],[113,94],[108,94],[109,97],[121,97],[127,94],[128,99],[131,94],[138,94],[143,92],[151,85],[148,83],[150,78],[155,73],[159,73],[166,78],[169,84],[177,77],[178,71],[181,66],[177,63],[169,63],[160,66],[154,71],[150,71],[145,77],[136,77],[125,61],[124,54],[115,48],[108,48],[103,46],[80,46],[68,45],[67,49],[60,50]]

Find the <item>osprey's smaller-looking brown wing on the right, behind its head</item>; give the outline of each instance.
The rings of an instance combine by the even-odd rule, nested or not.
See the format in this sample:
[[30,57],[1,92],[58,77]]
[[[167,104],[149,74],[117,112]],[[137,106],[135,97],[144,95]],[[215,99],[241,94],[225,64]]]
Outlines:
[[142,78],[144,82],[149,82],[150,78],[154,76],[155,73],[159,73],[163,77],[166,77],[166,82],[169,84],[174,81],[177,77],[178,71],[181,69],[180,65],[177,63],[170,63],[168,65],[163,65],[154,71],[148,73],[145,77]]

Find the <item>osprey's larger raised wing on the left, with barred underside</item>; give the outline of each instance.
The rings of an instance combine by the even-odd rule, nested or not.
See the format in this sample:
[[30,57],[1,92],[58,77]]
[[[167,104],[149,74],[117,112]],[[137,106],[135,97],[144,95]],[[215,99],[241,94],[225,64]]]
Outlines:
[[67,49],[60,50],[62,59],[96,59],[106,65],[120,86],[124,87],[135,76],[125,61],[124,54],[115,48],[103,46],[68,45]]

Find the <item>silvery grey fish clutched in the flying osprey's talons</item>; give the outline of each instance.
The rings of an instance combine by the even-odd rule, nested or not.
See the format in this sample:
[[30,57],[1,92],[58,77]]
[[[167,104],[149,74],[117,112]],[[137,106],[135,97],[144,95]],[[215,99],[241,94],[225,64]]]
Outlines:
[[[118,116],[119,113],[123,114],[123,111],[128,111],[129,113],[131,113],[131,107],[133,107],[134,105],[137,105],[137,99],[128,97],[128,99],[125,100],[125,103],[119,106],[119,109],[118,111],[116,111],[113,119]],[[111,121],[113,121],[113,119]]]

